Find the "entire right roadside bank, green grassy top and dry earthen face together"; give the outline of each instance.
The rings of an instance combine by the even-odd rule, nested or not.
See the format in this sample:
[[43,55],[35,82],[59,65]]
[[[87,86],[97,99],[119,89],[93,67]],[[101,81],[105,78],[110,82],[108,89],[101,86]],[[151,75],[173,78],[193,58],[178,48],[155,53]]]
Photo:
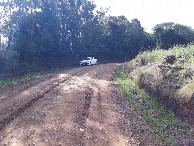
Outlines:
[[125,70],[138,87],[194,126],[194,45],[142,52]]

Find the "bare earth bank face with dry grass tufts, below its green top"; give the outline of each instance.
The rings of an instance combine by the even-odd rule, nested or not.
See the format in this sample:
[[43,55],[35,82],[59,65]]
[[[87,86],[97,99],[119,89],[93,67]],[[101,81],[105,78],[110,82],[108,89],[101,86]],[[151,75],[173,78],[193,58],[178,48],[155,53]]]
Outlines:
[[125,70],[140,88],[193,126],[194,67],[141,64],[132,60]]

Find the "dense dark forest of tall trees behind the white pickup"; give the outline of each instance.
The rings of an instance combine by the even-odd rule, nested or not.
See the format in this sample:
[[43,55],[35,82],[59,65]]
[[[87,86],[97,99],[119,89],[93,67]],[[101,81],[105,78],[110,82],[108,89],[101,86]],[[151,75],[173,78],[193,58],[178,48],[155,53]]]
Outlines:
[[138,19],[107,16],[88,0],[5,0],[0,8],[0,73],[59,67],[87,56],[125,61],[139,51],[194,40],[191,27],[170,22],[147,33]]

